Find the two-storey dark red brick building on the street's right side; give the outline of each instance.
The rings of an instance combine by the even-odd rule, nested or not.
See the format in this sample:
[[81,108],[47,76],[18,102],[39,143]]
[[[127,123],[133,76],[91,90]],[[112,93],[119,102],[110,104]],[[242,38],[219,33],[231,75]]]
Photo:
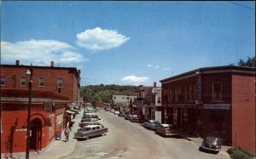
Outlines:
[[255,68],[200,68],[160,81],[162,120],[255,152]]

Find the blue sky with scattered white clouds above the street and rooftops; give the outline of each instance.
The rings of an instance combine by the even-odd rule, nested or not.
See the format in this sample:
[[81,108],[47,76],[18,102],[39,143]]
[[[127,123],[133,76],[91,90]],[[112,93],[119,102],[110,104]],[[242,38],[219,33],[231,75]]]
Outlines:
[[77,67],[81,84],[153,85],[255,54],[254,2],[2,2],[1,63]]

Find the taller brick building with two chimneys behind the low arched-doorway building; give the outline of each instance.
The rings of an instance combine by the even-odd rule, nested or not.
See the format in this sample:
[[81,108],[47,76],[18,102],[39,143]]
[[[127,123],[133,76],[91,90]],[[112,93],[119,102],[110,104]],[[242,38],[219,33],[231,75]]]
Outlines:
[[80,71],[73,67],[55,67],[53,61],[50,66],[20,65],[19,60],[15,65],[1,65],[1,89],[27,90],[25,73],[30,67],[33,69],[32,90],[65,95],[70,103],[77,103]]

